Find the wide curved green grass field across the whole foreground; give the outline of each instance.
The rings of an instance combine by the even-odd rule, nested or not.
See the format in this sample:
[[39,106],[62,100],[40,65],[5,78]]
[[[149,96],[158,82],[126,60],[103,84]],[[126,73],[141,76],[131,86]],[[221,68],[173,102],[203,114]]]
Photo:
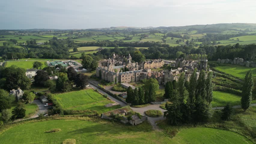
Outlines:
[[[46,133],[54,128],[61,131]],[[75,139],[77,144],[250,144],[247,138],[237,133],[213,128],[183,129],[174,138],[162,131],[152,131],[144,122],[137,126],[124,126],[111,122],[89,122],[76,119],[32,122],[10,128],[0,135],[0,143],[61,144],[65,139]]]

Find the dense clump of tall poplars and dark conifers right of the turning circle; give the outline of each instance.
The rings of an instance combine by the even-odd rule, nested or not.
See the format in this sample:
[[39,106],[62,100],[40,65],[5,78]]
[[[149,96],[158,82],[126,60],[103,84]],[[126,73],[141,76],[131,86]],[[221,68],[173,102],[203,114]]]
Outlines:
[[201,70],[197,79],[195,69],[189,82],[185,80],[185,74],[181,73],[175,88],[173,82],[166,83],[164,96],[172,103],[166,103],[164,116],[172,125],[178,122],[203,122],[212,116],[212,75],[212,72]]

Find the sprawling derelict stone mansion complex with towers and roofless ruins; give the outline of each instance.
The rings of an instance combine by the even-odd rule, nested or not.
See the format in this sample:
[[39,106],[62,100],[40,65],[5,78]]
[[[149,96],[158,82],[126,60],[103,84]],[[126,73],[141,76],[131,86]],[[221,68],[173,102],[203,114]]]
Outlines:
[[[189,81],[191,73],[194,71],[194,67],[198,67],[198,64],[195,61],[186,61],[183,58],[176,59],[176,62],[182,66],[178,67],[175,70],[160,70],[153,71],[151,69],[160,68],[164,65],[164,61],[161,59],[145,61],[141,64],[132,63],[130,61],[130,55],[128,57],[127,63],[119,64],[119,61],[116,61],[115,55],[112,59],[108,59],[99,64],[99,67],[96,68],[96,76],[104,79],[108,82],[114,83],[123,83],[123,82],[138,82],[142,79],[155,78],[159,84],[165,85],[168,81],[176,80],[178,81],[180,73],[185,73],[185,79]],[[201,67],[207,70],[207,60],[201,60]],[[200,69],[200,68],[199,68]],[[197,72],[197,79],[199,77],[199,71]]]

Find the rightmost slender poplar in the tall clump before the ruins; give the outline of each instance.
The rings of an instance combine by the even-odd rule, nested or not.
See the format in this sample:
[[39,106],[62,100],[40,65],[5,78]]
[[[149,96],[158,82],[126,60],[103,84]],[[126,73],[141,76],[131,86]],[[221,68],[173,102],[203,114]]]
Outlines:
[[213,72],[210,71],[206,79],[206,101],[209,104],[212,102],[212,89],[213,89],[212,74]]

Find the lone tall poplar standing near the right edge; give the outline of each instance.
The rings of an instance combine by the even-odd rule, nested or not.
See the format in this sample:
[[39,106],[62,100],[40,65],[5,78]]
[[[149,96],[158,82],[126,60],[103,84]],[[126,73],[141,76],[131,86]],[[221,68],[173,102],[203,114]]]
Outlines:
[[245,82],[242,89],[241,107],[246,111],[251,105],[252,87],[254,85],[251,70],[245,76]]

